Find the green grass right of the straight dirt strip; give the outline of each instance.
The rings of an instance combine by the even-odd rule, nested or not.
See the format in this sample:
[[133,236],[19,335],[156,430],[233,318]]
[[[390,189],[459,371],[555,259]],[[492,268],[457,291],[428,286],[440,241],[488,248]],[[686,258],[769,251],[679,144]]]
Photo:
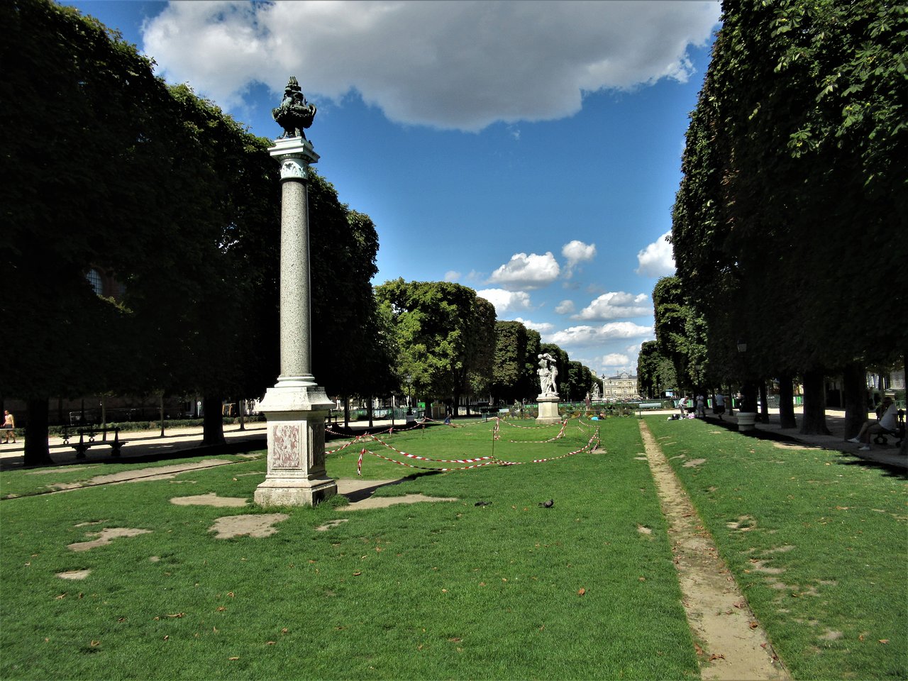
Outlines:
[[908,677],[903,475],[701,421],[646,423],[795,678]]

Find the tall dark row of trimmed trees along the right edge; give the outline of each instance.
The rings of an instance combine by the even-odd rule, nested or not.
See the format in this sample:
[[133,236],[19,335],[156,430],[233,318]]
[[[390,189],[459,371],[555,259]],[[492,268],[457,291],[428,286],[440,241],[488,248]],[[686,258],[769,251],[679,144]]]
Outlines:
[[908,10],[723,9],[687,133],[677,278],[705,321],[714,377],[798,374],[802,431],[823,432],[823,377],[844,374],[854,429],[864,365],[903,363],[908,348]]

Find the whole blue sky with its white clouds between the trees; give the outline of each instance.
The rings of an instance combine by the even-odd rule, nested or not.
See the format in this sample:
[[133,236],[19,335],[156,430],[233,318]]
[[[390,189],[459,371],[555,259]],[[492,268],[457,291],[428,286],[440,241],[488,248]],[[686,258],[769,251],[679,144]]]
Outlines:
[[717,2],[67,2],[252,133],[297,76],[374,283],[457,281],[597,375],[634,371]]

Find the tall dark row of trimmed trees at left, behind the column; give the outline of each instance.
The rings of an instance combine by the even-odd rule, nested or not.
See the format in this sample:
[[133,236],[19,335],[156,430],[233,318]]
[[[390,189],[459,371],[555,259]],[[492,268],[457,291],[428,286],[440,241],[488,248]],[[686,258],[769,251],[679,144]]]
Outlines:
[[[15,103],[0,109],[2,276],[15,291],[0,393],[29,402],[26,463],[48,459],[51,396],[197,391],[205,440],[220,441],[221,400],[261,395],[280,370],[271,142],[164,84],[74,8],[13,0],[0,19],[0,98]],[[387,384],[375,227],[318,176],[310,197],[313,370],[332,392]],[[97,295],[91,268],[122,291]]]

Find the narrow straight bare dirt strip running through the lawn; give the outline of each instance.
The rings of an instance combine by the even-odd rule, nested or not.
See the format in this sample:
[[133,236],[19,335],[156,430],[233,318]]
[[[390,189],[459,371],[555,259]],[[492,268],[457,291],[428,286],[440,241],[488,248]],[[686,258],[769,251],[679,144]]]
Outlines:
[[720,681],[789,679],[643,419],[640,434],[668,523],[687,622],[697,645],[700,675]]

